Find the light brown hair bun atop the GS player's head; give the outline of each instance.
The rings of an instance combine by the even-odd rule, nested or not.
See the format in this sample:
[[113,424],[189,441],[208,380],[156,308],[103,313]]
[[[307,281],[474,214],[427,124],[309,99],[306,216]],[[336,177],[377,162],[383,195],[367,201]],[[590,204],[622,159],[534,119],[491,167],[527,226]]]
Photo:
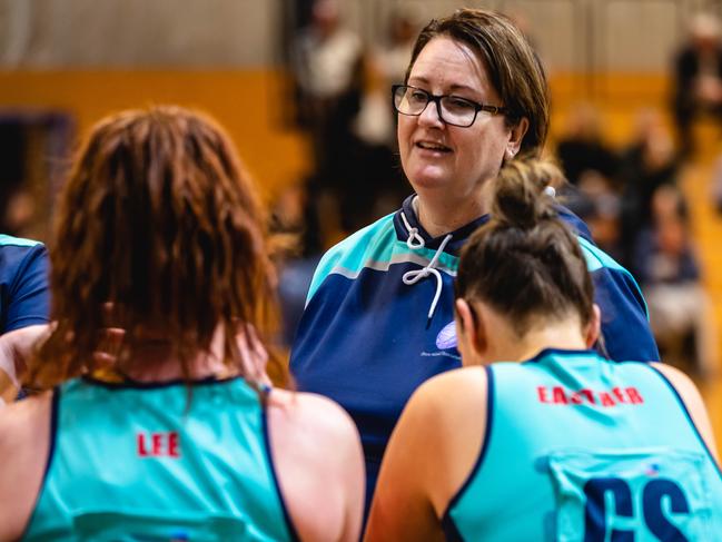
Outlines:
[[527,159],[511,160],[495,181],[492,218],[500,225],[531,229],[541,220],[556,217],[554,194],[547,187],[564,183],[561,170],[552,162]]

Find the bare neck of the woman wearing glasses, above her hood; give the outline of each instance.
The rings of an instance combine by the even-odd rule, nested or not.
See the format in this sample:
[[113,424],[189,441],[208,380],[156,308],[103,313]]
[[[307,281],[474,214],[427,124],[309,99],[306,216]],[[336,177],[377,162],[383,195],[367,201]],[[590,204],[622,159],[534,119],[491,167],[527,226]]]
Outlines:
[[438,197],[438,194],[425,197],[419,194],[414,205],[416,218],[432,237],[454,231],[488,213],[489,185],[485,183],[476,193],[463,197]]

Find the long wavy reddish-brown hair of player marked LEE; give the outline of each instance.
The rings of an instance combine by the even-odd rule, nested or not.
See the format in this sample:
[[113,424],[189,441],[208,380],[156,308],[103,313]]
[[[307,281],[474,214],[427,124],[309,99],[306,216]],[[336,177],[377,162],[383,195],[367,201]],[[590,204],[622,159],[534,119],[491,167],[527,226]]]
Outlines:
[[147,329],[170,338],[186,377],[221,326],[224,359],[244,374],[236,333],[268,331],[274,317],[265,220],[210,119],[154,107],[101,120],[60,195],[50,245],[56,327],[27,384],[92,372],[109,325],[125,329],[130,357]]

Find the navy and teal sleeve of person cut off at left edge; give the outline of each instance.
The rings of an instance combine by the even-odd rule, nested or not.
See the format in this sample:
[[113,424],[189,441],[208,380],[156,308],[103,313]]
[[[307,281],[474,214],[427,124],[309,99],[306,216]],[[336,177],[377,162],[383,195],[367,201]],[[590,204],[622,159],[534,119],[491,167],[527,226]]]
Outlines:
[[0,334],[47,324],[49,313],[44,245],[0,234]]

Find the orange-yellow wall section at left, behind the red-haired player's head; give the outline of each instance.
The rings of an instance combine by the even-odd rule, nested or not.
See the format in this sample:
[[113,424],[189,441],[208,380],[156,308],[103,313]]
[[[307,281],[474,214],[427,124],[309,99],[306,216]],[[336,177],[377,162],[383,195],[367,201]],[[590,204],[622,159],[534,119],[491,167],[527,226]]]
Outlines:
[[0,108],[70,112],[85,134],[119,109],[177,104],[216,117],[236,142],[266,198],[307,168],[305,139],[285,127],[281,78],[258,71],[4,71]]

